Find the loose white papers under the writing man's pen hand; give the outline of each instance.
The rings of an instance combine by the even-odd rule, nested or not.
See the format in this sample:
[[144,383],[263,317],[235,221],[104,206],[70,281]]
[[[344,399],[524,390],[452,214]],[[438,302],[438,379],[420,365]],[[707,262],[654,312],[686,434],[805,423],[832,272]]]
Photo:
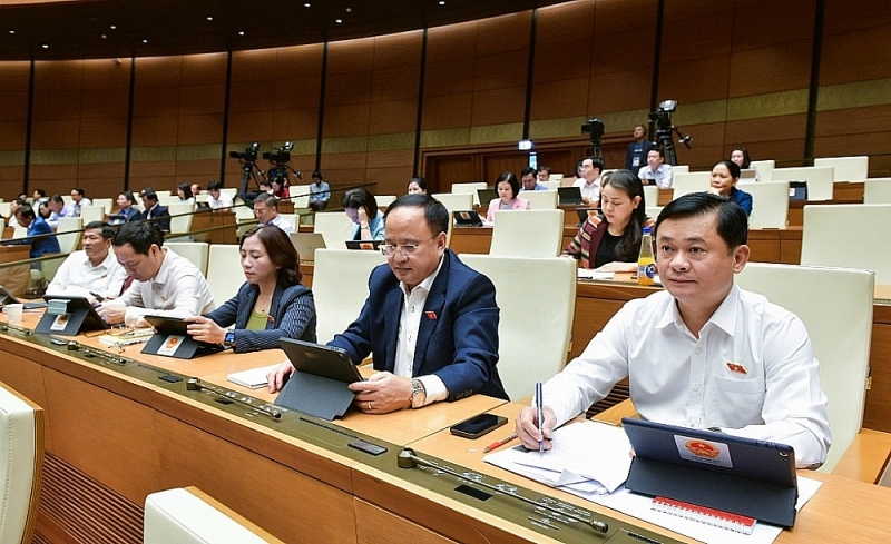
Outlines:
[[555,431],[545,455],[517,446],[487,455],[483,461],[551,487],[603,495],[628,477],[630,451],[621,427],[584,422]]

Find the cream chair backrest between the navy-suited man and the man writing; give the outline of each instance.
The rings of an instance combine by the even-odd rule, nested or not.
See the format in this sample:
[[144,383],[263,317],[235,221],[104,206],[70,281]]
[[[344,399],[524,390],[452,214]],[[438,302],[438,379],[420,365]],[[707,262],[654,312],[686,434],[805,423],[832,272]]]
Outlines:
[[526,397],[536,382],[547,380],[566,364],[576,309],[576,263],[470,254],[461,260],[496,286],[501,309],[498,374],[510,398]]

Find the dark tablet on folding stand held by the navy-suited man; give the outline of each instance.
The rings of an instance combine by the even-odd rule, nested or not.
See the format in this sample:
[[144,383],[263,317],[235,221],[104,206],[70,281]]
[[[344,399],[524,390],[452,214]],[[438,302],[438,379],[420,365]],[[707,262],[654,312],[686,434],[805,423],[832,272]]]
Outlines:
[[364,379],[346,352],[292,338],[281,338],[278,347],[294,365],[294,374],[275,404],[327,421],[342,417],[355,396],[347,385]]

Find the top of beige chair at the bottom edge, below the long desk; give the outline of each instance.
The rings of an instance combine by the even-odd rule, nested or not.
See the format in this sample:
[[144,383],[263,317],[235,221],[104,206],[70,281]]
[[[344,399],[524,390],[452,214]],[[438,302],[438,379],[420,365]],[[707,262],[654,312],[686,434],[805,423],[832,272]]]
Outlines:
[[282,542],[196,487],[146,496],[143,535],[145,544]]

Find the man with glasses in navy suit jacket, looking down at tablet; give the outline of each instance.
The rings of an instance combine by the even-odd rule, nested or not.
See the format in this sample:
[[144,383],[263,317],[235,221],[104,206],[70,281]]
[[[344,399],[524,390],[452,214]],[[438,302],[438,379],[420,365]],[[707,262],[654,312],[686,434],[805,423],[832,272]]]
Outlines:
[[[353,360],[373,356],[368,382],[350,385],[372,414],[420,408],[476,393],[507,399],[498,376],[495,286],[446,248],[449,212],[427,195],[396,199],[384,215],[386,265],[369,278],[369,298],[350,327],[329,343]],[[270,373],[270,390],[294,372]]]

